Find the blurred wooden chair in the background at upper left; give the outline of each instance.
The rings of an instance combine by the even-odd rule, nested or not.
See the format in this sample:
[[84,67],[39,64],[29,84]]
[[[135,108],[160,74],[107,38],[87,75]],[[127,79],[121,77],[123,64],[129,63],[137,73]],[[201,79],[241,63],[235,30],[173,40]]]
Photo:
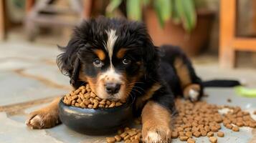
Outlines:
[[[27,18],[25,26],[29,40],[35,38],[37,26],[76,26],[79,21],[60,18],[60,14],[77,14],[80,19],[88,19],[91,11],[92,0],[68,0],[71,9],[58,9],[52,6],[54,0],[41,0],[35,3],[35,0],[26,1]],[[81,3],[82,2],[82,3]],[[42,12],[54,14],[42,14]]]

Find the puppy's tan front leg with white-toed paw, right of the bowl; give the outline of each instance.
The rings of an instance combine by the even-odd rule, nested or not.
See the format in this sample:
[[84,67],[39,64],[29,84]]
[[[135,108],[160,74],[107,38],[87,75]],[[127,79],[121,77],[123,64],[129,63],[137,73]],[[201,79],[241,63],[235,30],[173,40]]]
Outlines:
[[149,101],[143,108],[141,117],[143,142],[171,142],[171,112],[168,109]]

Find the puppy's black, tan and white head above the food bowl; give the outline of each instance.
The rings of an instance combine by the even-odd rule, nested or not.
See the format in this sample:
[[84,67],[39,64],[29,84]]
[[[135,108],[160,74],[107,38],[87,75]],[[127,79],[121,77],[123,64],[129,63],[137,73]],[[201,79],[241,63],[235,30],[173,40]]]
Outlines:
[[103,99],[127,99],[136,82],[156,71],[156,49],[144,24],[136,21],[84,21],[63,50],[57,63],[72,86],[88,83]]

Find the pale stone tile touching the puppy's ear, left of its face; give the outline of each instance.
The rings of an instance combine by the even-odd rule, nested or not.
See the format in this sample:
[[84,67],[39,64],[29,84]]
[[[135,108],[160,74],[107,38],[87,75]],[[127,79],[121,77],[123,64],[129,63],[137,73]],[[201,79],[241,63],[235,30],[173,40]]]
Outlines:
[[57,65],[46,65],[35,66],[28,68],[23,71],[25,74],[47,79],[53,83],[70,87],[70,78],[63,75]]

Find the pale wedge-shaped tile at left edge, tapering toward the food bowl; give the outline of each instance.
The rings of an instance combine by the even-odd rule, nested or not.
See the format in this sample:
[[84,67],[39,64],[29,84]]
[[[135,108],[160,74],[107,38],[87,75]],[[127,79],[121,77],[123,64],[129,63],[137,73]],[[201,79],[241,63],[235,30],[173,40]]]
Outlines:
[[0,106],[60,96],[68,92],[65,89],[54,89],[35,79],[20,77],[11,71],[0,72],[0,79]]

